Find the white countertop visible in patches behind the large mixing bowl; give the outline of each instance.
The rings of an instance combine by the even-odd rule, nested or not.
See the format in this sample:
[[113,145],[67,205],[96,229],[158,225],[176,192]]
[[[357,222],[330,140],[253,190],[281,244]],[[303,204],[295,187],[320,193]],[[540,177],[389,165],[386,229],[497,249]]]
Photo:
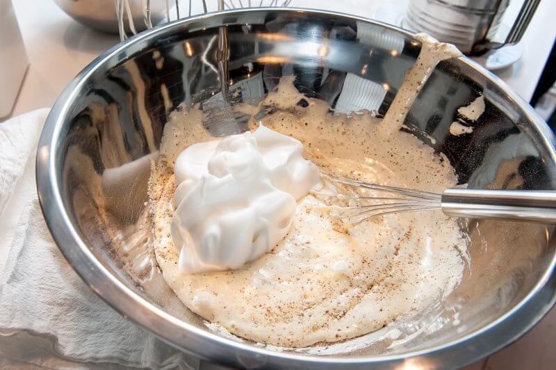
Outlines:
[[[384,1],[384,0],[383,0]],[[380,1],[294,0],[292,6],[322,8],[372,17]],[[81,26],[51,0],[15,0],[15,13],[30,66],[12,115],[51,106],[64,86],[96,56],[119,39]],[[529,100],[556,37],[556,1],[541,1],[523,36],[523,57],[498,75]]]

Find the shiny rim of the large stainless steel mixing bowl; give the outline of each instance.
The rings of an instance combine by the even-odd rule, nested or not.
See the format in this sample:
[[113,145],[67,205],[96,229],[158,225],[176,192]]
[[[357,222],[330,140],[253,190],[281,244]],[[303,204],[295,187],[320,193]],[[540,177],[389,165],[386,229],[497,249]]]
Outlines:
[[[429,366],[442,364],[442,367],[461,367],[508,346],[538,323],[556,303],[556,274],[553,273],[556,256],[530,293],[496,321],[464,337],[444,344],[419,351],[373,357],[349,357],[349,355],[331,357],[270,351],[263,347],[255,347],[244,342],[220,337],[181,321],[163,311],[163,309],[156,307],[156,305],[126,287],[123,282],[118,280],[99,262],[79,235],[79,231],[74,227],[65,210],[60,195],[58,166],[56,165],[56,159],[60,155],[63,134],[71,124],[71,122],[66,122],[66,116],[71,113],[72,106],[79,99],[80,91],[86,87],[88,79],[104,64],[114,61],[122,63],[129,56],[132,56],[133,53],[129,54],[128,51],[133,50],[133,45],[137,46],[142,42],[154,40],[156,35],[165,33],[165,31],[172,32],[180,27],[185,31],[187,26],[195,24],[195,22],[203,22],[210,27],[219,26],[225,24],[221,21],[226,15],[245,13],[252,13],[253,15],[259,13],[306,13],[309,15],[340,17],[351,21],[376,24],[402,33],[408,38],[414,37],[414,33],[390,24],[327,10],[289,7],[235,9],[206,13],[157,26],[115,45],[115,47],[92,61],[66,86],[51,108],[40,135],[36,156],[38,198],[44,219],[58,248],[90,289],[95,291],[117,312],[120,312],[124,318],[146,328],[168,344],[186,353],[196,355],[202,360],[239,367],[326,367],[332,369],[338,366],[364,367],[374,365],[395,367],[404,364],[426,364]],[[507,94],[507,99],[521,109],[525,118],[532,123],[534,129],[540,134],[543,144],[550,148],[551,156],[556,163],[555,136],[532,108],[521,97],[512,93],[508,86],[491,72],[484,70],[480,65],[465,56],[460,57],[459,60],[475,72],[485,75],[494,86]],[[133,307],[133,309],[130,309],[130,307]]]

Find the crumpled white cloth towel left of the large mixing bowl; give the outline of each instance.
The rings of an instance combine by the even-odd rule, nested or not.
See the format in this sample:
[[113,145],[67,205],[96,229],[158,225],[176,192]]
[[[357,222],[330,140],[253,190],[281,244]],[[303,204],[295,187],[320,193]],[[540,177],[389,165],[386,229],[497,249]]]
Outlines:
[[[0,123],[0,367],[197,368],[126,321],[67,263],[44,223],[35,153],[48,109]],[[1,259],[0,259],[1,262]]]

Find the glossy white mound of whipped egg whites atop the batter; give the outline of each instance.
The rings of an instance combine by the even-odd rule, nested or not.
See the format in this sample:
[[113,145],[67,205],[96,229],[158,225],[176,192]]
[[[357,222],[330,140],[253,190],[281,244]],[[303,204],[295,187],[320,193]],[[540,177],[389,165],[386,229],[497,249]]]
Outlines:
[[183,273],[240,268],[288,234],[296,201],[320,184],[299,140],[264,127],[177,157],[172,241]]

